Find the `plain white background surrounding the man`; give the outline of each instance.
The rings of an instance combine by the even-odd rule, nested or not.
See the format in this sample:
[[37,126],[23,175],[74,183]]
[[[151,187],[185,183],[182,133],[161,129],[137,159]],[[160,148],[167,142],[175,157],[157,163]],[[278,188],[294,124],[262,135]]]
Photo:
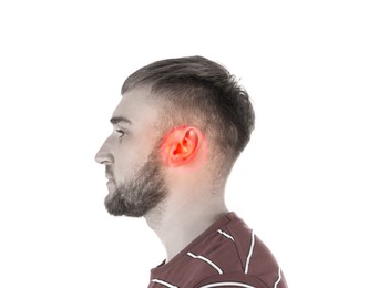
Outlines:
[[164,250],[105,212],[94,154],[124,79],[194,54],[256,110],[228,208],[291,288],[365,287],[368,27],[366,1],[2,1],[0,287],[146,287]]

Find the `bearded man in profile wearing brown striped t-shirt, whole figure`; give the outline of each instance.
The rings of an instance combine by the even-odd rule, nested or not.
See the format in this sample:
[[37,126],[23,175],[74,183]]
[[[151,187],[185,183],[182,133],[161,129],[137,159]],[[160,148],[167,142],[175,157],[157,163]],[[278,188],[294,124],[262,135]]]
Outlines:
[[145,217],[166,249],[148,287],[287,287],[254,232],[228,212],[227,176],[254,130],[246,91],[222,65],[191,56],[130,75],[96,154],[112,215]]

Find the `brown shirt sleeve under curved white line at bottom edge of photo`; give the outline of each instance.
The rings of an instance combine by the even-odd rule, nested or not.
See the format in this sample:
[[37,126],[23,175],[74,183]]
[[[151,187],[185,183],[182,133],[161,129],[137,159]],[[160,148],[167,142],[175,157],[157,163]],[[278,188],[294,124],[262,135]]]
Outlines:
[[273,287],[268,287],[259,278],[252,276],[252,275],[242,274],[242,272],[212,276],[209,278],[206,278],[205,280],[202,280],[195,287],[196,288],[212,288],[212,287],[273,288]]

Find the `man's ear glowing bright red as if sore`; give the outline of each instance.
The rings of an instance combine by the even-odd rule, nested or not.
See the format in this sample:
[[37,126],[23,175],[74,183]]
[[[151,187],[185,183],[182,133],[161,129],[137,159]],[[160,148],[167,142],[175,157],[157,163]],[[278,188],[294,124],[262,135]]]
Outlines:
[[194,161],[203,137],[201,131],[194,126],[181,126],[170,131],[162,144],[164,164],[177,167]]

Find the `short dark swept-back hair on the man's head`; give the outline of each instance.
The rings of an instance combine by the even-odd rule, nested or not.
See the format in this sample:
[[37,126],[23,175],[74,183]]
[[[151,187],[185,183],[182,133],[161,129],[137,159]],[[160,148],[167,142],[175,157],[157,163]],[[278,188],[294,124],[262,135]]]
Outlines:
[[228,162],[247,145],[254,109],[246,90],[223,65],[203,56],[156,61],[131,74],[122,95],[139,85],[150,85],[164,100],[165,123],[197,124]]

